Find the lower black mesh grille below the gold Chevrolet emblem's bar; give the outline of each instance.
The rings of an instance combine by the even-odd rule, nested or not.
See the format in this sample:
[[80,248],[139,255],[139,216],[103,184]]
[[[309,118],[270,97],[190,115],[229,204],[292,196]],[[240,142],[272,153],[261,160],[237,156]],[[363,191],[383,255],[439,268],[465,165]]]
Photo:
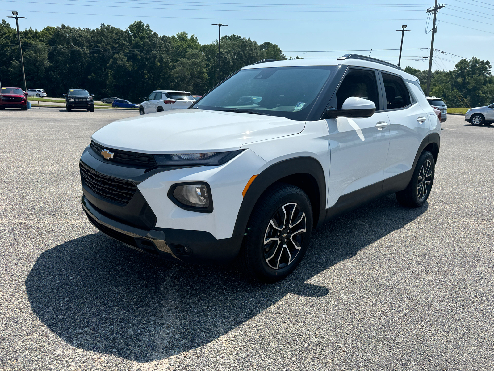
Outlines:
[[137,191],[137,187],[133,183],[100,174],[82,163],[79,163],[79,167],[81,179],[85,185],[107,200],[126,205]]

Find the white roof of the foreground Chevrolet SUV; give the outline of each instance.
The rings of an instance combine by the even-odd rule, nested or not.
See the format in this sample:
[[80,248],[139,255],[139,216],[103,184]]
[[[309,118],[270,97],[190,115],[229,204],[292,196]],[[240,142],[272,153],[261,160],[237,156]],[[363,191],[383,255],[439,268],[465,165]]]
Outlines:
[[[373,59],[373,58],[372,58]],[[260,64],[250,64],[248,66],[243,67],[242,69],[251,69],[251,68],[268,68],[268,67],[294,67],[294,66],[337,66],[337,65],[347,65],[347,66],[356,66],[356,67],[370,67],[375,68],[377,70],[391,72],[394,74],[401,75],[407,80],[415,81],[417,78],[405,71],[399,70],[396,67],[393,67],[391,63],[384,62],[384,64],[365,59],[356,59],[356,58],[345,58],[343,60],[337,60],[333,57],[328,58],[307,58],[307,59],[288,59],[288,60],[277,60],[271,62],[264,62]]]

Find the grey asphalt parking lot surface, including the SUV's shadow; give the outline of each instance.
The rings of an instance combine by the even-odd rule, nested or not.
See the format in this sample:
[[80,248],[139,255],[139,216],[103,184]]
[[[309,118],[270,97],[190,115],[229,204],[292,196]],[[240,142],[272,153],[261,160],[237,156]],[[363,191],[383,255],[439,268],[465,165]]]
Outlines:
[[339,217],[260,285],[89,224],[82,150],[137,114],[0,111],[1,370],[493,370],[494,125],[450,115],[424,206]]

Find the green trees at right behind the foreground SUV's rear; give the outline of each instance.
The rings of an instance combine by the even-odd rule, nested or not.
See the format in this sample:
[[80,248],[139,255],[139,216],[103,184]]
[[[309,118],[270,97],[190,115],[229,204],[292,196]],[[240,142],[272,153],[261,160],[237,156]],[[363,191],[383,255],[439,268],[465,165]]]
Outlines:
[[[424,92],[427,71],[406,67],[405,71],[418,77]],[[443,98],[448,107],[478,107],[494,102],[494,76],[491,63],[473,57],[461,59],[452,71],[435,71],[431,76],[429,95]]]

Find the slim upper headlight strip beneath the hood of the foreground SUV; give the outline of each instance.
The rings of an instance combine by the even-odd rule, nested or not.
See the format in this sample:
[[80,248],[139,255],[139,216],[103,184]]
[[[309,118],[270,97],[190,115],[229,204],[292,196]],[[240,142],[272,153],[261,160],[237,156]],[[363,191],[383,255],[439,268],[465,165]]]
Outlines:
[[158,166],[218,166],[230,161],[242,151],[243,149],[231,152],[157,154],[154,157]]

